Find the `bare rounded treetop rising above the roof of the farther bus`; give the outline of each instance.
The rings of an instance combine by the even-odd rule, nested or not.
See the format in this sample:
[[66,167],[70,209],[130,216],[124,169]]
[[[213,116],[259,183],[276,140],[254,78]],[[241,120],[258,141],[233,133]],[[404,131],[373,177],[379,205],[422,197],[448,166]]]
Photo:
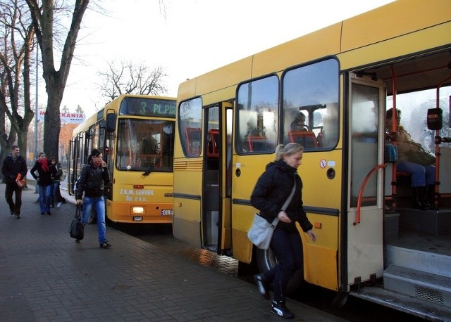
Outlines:
[[135,64],[123,60],[119,66],[116,65],[114,61],[108,63],[107,70],[99,72],[99,76],[104,79],[99,89],[109,101],[113,101],[121,94],[163,95],[167,93],[163,84],[163,78],[167,75],[163,67],[158,66],[151,70],[142,62]]

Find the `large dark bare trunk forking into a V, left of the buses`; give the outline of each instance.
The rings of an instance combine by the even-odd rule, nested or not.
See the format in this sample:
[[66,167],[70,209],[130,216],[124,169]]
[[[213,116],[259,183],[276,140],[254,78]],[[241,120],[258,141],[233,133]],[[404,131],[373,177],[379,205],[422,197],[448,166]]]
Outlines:
[[[63,7],[66,2],[43,0],[25,0],[31,11],[32,23],[35,28],[37,43],[42,54],[42,75],[46,84],[47,108],[44,115],[44,151],[48,155],[58,155],[58,138],[61,130],[60,105],[72,63],[75,44],[80,30],[83,15],[89,0],[74,0],[73,7]],[[58,15],[70,12],[70,27],[61,52],[59,69],[55,68],[54,60],[54,24],[58,23]],[[57,16],[55,16],[57,15]]]

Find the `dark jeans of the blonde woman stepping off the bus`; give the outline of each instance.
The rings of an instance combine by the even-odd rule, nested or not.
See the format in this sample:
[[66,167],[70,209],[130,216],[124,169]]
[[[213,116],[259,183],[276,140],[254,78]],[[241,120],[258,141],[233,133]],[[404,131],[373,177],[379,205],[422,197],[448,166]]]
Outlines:
[[271,250],[276,255],[278,264],[266,271],[262,278],[273,283],[274,300],[283,300],[293,273],[303,269],[302,240],[299,231],[296,228],[291,231],[285,231],[283,228],[274,229]]

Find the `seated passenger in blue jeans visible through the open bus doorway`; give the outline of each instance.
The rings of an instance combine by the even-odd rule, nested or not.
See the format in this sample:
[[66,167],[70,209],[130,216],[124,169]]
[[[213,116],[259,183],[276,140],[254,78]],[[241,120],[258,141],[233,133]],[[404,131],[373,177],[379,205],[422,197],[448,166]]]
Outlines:
[[[402,125],[400,125],[401,111],[396,110],[397,116],[397,171],[412,175],[412,207],[421,210],[431,209],[429,198],[434,191],[435,166],[418,165],[409,159],[409,154],[418,153],[414,140]],[[389,109],[385,116],[385,128],[389,133],[393,130],[393,109]]]

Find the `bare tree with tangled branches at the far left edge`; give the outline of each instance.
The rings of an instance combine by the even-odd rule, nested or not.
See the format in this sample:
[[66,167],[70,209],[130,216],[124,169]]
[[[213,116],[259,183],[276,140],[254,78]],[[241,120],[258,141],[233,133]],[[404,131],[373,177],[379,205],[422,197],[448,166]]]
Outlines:
[[[25,153],[28,127],[35,116],[30,103],[30,61],[35,30],[23,0],[0,3],[0,159],[18,141]],[[7,127],[5,117],[10,121]],[[8,134],[6,132],[8,131]]]

